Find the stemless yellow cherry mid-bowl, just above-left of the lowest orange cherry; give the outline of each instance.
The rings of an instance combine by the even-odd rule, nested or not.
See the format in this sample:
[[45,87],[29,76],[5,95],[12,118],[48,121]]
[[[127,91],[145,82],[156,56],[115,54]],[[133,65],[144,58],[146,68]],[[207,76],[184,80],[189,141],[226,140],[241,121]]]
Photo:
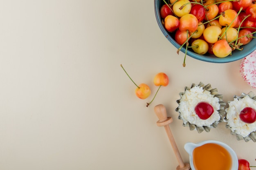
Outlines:
[[215,43],[218,41],[218,37],[221,34],[221,29],[218,26],[209,26],[204,30],[204,40],[209,43]]

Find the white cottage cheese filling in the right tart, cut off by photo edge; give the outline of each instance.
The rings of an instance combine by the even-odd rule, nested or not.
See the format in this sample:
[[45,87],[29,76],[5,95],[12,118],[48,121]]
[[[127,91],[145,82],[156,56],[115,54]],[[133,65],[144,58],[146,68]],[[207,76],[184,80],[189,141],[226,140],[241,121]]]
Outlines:
[[256,110],[256,101],[248,95],[243,98],[234,98],[234,101],[229,102],[229,108],[227,108],[227,121],[230,129],[238,135],[243,137],[248,136],[251,132],[256,131],[256,122],[247,124],[243,122],[239,115],[241,110],[245,107],[251,107]]

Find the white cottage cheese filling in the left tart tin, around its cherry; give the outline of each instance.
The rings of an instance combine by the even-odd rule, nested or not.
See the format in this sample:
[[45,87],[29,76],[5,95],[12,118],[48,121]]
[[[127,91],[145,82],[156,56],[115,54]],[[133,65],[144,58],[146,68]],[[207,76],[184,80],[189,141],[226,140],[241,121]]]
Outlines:
[[[195,106],[199,102],[207,102],[211,104],[214,109],[213,114],[206,120],[200,119],[195,113]],[[182,95],[179,103],[180,117],[183,119],[184,124],[189,122],[196,126],[209,126],[215,121],[220,120],[218,110],[220,110],[219,98],[214,97],[209,91],[204,91],[202,87],[194,86],[190,90],[186,90]]]

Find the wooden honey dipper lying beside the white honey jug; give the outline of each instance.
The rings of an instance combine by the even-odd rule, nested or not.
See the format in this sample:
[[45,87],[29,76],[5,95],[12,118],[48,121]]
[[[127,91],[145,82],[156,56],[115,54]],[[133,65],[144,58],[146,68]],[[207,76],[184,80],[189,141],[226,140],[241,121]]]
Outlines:
[[180,156],[180,152],[178,150],[178,147],[175,143],[175,140],[173,138],[173,134],[171,132],[171,129],[169,127],[169,124],[173,122],[172,117],[167,117],[166,108],[164,105],[159,104],[155,106],[154,108],[155,114],[158,117],[157,126],[164,126],[166,134],[171,142],[171,146],[173,148],[174,154],[179,162],[179,166],[177,166],[176,170],[189,170],[190,165],[189,163],[184,163],[182,160],[182,157]]

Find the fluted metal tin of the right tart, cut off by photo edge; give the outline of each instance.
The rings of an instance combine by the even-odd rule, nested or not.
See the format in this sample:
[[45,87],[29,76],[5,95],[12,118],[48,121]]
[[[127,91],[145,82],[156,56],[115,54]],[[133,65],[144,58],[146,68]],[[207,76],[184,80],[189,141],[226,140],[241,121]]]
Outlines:
[[[248,94],[242,93],[241,96],[234,95],[234,99],[235,99],[235,98],[237,98],[237,99],[242,99],[242,98],[245,97],[245,96],[249,96],[250,98],[256,100],[256,95],[255,95],[252,91],[250,91]],[[227,102],[227,103],[229,104],[230,101]],[[228,108],[225,109],[225,112],[226,112],[226,113],[227,113],[227,109],[228,109]],[[224,121],[227,122],[227,118],[226,118],[226,117],[224,117]],[[236,134],[236,132],[232,131],[232,130],[231,130],[231,127],[230,127],[228,124],[226,124],[226,128],[230,129],[231,135],[236,135],[236,139],[237,139],[238,141],[240,141],[240,140],[245,140],[246,142],[248,142],[249,140],[252,140],[252,141],[256,142],[256,131],[251,132],[251,133],[250,133],[248,136],[246,136],[246,137],[243,137],[242,135],[238,135],[238,134]]]

